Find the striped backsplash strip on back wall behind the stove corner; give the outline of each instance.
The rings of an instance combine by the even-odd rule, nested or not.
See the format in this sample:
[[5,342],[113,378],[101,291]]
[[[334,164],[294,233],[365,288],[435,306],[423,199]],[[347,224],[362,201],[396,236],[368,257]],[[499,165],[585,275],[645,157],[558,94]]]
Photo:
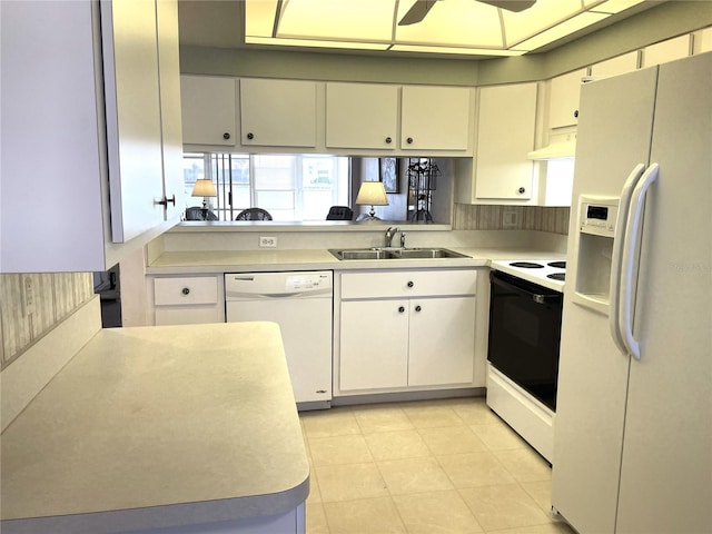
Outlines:
[[[455,204],[454,230],[538,230],[568,234],[571,208]],[[514,219],[514,220],[512,220]]]

